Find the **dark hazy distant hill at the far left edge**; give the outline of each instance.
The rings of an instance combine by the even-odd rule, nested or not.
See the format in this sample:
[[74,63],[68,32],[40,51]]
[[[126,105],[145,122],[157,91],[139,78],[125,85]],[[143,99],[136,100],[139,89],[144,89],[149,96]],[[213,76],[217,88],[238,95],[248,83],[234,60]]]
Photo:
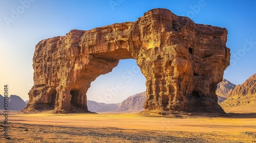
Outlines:
[[[0,94],[0,109],[4,110],[4,97]],[[9,104],[8,104],[8,110],[22,110],[26,107],[26,103],[22,98],[19,96],[11,95],[8,98]]]

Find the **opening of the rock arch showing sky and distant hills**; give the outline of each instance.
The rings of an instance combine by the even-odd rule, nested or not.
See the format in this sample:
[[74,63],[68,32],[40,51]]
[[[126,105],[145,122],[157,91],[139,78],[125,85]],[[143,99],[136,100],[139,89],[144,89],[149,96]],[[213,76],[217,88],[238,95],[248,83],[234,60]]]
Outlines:
[[[136,101],[126,99],[144,92],[146,90],[145,81],[146,79],[135,59],[119,60],[118,65],[110,73],[100,75],[91,83],[91,87],[87,91],[88,110],[92,112],[115,112],[117,110],[118,112],[127,112],[134,108],[138,108],[138,112],[144,110],[141,101],[140,105],[132,107]],[[131,105],[126,105],[126,110],[124,108],[119,109],[118,106],[124,100]],[[142,100],[145,98],[142,97]]]

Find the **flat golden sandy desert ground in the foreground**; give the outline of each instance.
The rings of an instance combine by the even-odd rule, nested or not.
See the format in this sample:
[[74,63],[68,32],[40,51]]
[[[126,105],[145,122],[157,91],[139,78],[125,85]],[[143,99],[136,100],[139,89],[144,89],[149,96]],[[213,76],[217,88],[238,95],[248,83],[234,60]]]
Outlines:
[[[256,142],[256,115],[12,114],[0,142]],[[1,122],[1,128],[3,122]]]

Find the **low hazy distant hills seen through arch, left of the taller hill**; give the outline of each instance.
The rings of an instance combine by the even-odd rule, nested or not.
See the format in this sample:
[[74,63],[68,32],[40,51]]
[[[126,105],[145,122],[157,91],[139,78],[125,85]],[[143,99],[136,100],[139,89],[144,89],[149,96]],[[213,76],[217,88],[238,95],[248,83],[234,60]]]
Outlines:
[[87,100],[88,110],[91,112],[108,112],[108,111],[115,111],[119,103],[116,104],[105,104],[105,103],[98,103],[95,101]]

